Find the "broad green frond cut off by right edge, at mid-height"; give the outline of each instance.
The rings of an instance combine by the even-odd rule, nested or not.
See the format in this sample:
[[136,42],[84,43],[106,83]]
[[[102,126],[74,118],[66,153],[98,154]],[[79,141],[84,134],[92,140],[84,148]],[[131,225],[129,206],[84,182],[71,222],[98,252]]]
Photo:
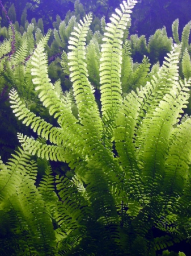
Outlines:
[[[191,119],[177,126],[171,134],[168,158],[165,163],[164,189],[167,198],[181,195],[188,180],[191,162],[190,133]],[[169,199],[168,199],[169,200]],[[171,204],[169,201],[167,205]]]

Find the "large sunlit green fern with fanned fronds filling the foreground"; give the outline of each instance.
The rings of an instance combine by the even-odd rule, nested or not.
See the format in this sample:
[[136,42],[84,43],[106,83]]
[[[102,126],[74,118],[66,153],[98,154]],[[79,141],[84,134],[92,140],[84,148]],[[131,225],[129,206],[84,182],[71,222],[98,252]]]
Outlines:
[[[57,126],[32,113],[11,89],[15,115],[40,136],[34,139],[18,133],[24,151],[19,152],[19,157],[14,156],[12,165],[0,163],[0,175],[9,174],[8,180],[0,183],[0,214],[7,221],[12,220],[11,242],[14,231],[18,232],[12,245],[13,250],[17,243],[20,246],[16,252],[154,255],[157,249],[190,237],[191,123],[189,116],[182,118],[190,80],[181,81],[179,77],[181,44],[172,46],[162,67],[155,64],[150,73],[147,57],[142,64],[132,63],[129,43],[124,48],[122,43],[134,5],[135,1],[124,1],[121,10],[112,15],[101,51],[98,34],[86,47],[87,37],[92,36],[92,14],[75,24],[69,52],[62,55],[62,66],[70,74],[73,92],[63,93],[60,80],[50,82],[45,52],[50,32],[37,44],[28,67],[32,66],[32,82],[39,100],[56,119]],[[58,19],[58,24],[62,40],[66,23]],[[59,34],[61,30],[56,28]],[[136,38],[138,47],[146,51],[145,38]],[[158,30],[148,48],[151,50],[162,40],[166,51],[172,45],[172,40],[166,39],[165,28]],[[101,84],[101,114],[91,84],[90,57],[95,53],[97,59],[92,66],[97,68],[100,64],[99,77],[98,72],[96,75]],[[187,55],[185,51],[184,70]],[[22,53],[18,51],[16,59],[19,58]],[[126,64],[130,68],[127,75]],[[130,81],[135,91],[123,97],[122,90]],[[73,106],[78,115],[74,115]],[[65,162],[69,172],[63,172],[62,167],[60,174],[54,175],[46,163],[45,174],[36,187],[36,164],[28,154]],[[10,242],[5,225],[0,223],[4,253]],[[154,229],[162,230],[164,236],[157,238]],[[14,255],[11,249],[9,253]]]

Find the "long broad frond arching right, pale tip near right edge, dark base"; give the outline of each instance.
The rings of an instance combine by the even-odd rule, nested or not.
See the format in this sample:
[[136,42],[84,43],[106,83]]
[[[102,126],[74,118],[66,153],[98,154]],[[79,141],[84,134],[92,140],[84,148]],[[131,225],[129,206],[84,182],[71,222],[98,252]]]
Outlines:
[[[149,120],[145,144],[139,152],[142,163],[142,175],[148,186],[145,187],[151,199],[161,191],[161,180],[165,172],[165,158],[167,157],[168,142],[173,125],[179,121],[182,108],[188,103],[189,84],[177,82],[169,94],[165,94]],[[146,117],[147,118],[147,117]],[[144,125],[143,125],[144,126]],[[150,155],[153,158],[150,158]]]

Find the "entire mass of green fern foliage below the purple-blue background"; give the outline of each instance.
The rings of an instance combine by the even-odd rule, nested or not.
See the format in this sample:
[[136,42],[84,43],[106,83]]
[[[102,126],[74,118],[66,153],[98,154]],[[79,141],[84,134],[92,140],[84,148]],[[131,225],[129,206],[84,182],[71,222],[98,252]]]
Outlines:
[[1,255],[149,256],[189,242],[191,24],[181,39],[177,19],[173,39],[129,36],[134,5],[106,24],[77,1],[47,34],[26,16],[1,27],[3,160],[16,131],[22,144],[0,163]]

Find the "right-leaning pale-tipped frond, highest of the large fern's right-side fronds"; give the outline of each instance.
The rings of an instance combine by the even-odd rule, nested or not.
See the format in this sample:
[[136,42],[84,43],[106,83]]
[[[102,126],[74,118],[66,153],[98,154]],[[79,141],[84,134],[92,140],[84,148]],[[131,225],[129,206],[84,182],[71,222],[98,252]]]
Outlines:
[[[139,129],[138,137],[136,140],[136,146],[141,150],[142,145],[145,143],[145,132],[150,127],[150,120],[153,117],[155,109],[158,108],[159,102],[163,99],[166,93],[172,90],[173,86],[176,86],[179,79],[178,66],[180,55],[180,46],[173,48],[173,50],[165,57],[163,66],[160,68],[157,76],[152,77],[151,82],[147,82],[145,88],[138,90],[138,96],[141,100],[141,108],[139,112],[139,119],[144,118],[143,126],[145,131]],[[142,127],[143,127],[142,126]],[[147,128],[146,128],[147,127]]]

